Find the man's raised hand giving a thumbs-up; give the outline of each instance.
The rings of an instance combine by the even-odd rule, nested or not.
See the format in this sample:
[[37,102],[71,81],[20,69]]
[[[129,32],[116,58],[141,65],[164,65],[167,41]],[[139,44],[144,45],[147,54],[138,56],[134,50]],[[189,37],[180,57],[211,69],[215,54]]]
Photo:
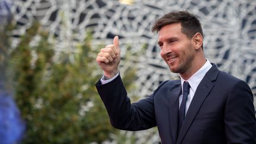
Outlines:
[[113,44],[108,44],[105,48],[100,50],[96,61],[101,69],[104,71],[105,78],[113,78],[118,72],[120,63],[120,47],[119,37],[115,36]]

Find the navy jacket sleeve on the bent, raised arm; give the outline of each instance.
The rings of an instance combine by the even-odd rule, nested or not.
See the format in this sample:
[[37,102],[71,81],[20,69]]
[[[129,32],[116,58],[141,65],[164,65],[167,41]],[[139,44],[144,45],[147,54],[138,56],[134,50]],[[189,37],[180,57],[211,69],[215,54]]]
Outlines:
[[121,130],[145,130],[156,126],[153,94],[131,104],[120,75],[113,81],[95,84],[113,127]]

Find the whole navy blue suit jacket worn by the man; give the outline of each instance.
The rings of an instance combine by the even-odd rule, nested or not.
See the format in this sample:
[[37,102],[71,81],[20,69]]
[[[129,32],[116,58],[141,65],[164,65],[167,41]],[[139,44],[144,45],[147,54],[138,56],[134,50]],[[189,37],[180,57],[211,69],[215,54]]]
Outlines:
[[104,85],[98,81],[96,87],[117,129],[135,131],[157,126],[162,143],[256,143],[251,89],[216,65],[197,87],[180,133],[180,80],[162,82],[149,97],[132,104],[120,76]]

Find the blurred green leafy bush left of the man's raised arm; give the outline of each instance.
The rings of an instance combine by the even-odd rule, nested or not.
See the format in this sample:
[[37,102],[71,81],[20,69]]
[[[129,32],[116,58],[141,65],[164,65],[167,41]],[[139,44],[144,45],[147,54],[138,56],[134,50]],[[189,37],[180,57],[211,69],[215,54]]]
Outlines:
[[[35,37],[40,40],[32,46]],[[92,49],[91,41],[88,33],[72,53],[57,54],[49,34],[34,23],[8,54],[8,78],[26,121],[23,143],[101,143],[119,132],[95,89],[102,72],[95,62],[99,49]],[[123,76],[127,88],[134,88],[135,69]]]

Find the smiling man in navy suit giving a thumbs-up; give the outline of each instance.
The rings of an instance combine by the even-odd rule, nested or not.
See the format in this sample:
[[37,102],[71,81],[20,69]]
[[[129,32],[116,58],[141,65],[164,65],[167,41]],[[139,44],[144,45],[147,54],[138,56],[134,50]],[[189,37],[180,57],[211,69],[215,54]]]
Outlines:
[[159,34],[162,59],[181,80],[162,82],[148,98],[131,104],[114,37],[96,59],[104,71],[96,87],[111,124],[122,130],[158,126],[162,143],[256,143],[251,89],[204,57],[199,20],[187,11],[169,12],[152,31]]

